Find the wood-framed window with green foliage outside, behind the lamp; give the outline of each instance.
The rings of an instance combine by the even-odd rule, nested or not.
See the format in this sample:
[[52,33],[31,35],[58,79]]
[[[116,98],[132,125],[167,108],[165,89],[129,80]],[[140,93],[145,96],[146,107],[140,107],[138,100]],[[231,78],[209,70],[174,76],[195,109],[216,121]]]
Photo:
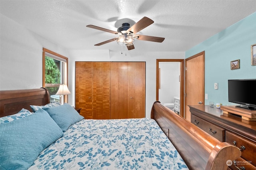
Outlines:
[[[56,95],[60,84],[68,84],[68,58],[43,48],[43,87],[50,93],[50,101],[60,102]],[[62,98],[68,102],[67,95]]]

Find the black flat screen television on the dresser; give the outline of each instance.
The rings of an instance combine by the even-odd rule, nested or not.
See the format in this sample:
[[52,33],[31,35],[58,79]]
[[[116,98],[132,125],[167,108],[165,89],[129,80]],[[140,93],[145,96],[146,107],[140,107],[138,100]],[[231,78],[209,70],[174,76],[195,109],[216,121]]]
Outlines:
[[228,102],[256,110],[256,79],[228,80]]

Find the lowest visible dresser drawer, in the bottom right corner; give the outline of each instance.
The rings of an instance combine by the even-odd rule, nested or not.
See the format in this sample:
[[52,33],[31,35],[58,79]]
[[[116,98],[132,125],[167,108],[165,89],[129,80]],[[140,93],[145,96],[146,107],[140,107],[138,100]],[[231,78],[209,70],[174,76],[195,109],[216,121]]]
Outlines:
[[253,166],[250,161],[247,161],[243,158],[238,158],[232,162],[232,165],[229,166],[228,168],[232,170],[256,170],[256,167]]

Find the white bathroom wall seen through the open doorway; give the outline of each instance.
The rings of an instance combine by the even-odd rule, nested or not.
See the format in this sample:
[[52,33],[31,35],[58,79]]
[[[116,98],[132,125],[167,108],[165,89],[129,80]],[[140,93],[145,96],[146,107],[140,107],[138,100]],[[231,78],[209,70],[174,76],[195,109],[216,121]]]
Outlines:
[[158,99],[162,104],[174,103],[174,97],[180,96],[180,62],[159,62],[160,89]]

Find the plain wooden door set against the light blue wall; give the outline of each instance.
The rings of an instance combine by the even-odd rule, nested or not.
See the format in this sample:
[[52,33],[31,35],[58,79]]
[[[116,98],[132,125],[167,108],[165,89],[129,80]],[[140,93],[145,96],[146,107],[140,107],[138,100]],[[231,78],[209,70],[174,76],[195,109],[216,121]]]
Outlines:
[[204,51],[186,59],[185,113],[190,121],[188,105],[204,104]]

